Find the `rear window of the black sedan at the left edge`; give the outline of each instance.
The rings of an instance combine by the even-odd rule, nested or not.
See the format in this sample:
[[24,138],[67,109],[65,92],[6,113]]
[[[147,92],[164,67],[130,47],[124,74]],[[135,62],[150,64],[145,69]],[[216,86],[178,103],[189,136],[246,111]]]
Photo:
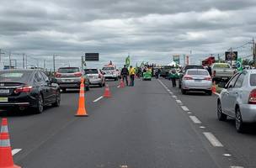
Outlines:
[[20,82],[29,80],[31,71],[0,71],[0,82]]

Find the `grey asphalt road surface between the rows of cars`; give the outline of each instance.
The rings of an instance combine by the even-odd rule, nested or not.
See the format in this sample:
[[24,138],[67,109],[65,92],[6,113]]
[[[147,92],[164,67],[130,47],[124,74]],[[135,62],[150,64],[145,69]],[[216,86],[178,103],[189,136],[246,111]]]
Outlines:
[[[61,94],[60,108],[8,115],[17,165],[25,168],[256,167],[255,131],[237,134],[216,119],[216,96],[181,95],[166,80],[86,93],[88,118],[77,118],[78,92]],[[178,101],[179,100],[179,101]],[[253,142],[254,141],[254,142]],[[224,155],[226,154],[226,155]],[[227,155],[228,154],[228,155]]]

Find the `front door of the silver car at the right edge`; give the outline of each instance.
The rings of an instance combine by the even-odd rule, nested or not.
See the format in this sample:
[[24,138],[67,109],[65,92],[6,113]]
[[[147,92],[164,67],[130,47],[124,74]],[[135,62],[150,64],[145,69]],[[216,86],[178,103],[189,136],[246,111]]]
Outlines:
[[235,76],[232,77],[230,81],[227,83],[227,87],[221,92],[221,106],[222,110],[224,113],[227,113],[228,115],[231,115],[230,112],[230,107],[231,107],[231,102],[230,102],[230,92],[232,92],[232,88],[234,87],[237,77],[240,74],[236,74]]

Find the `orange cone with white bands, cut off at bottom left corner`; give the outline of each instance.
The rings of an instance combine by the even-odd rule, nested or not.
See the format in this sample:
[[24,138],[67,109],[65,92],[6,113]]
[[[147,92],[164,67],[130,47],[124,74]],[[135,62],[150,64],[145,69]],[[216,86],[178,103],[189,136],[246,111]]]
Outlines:
[[8,134],[7,118],[2,119],[2,127],[0,133],[0,167],[1,168],[21,168],[19,165],[14,165],[12,148]]

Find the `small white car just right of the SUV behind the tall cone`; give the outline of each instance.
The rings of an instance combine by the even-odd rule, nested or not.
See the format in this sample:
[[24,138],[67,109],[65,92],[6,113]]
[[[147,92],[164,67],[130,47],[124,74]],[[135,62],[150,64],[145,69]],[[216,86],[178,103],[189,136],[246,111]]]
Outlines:
[[89,76],[90,85],[99,85],[99,87],[104,87],[105,77],[99,69],[85,69],[84,72]]

